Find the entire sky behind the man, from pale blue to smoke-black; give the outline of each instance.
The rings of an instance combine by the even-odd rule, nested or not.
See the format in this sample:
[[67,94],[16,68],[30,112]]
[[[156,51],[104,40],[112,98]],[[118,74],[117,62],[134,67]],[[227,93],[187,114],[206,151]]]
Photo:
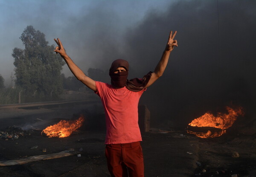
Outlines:
[[[123,58],[130,78],[154,71],[170,30],[177,30],[164,75],[141,99],[151,115],[187,124],[228,104],[252,113],[255,9],[255,0],[0,0],[0,75],[9,85],[12,49],[23,49],[19,37],[29,25],[49,44],[60,38],[84,73]],[[67,66],[63,73],[71,75]]]

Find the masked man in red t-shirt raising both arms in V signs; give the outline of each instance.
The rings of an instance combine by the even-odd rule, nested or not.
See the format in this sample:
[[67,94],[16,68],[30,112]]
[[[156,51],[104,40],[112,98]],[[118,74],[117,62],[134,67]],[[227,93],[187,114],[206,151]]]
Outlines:
[[177,46],[177,40],[174,40],[176,33],[175,31],[172,35],[172,31],[170,32],[166,48],[154,72],[149,72],[142,79],[127,80],[128,62],[122,59],[113,61],[109,70],[111,85],[94,81],[85,75],[67,55],[61,41],[54,39],[58,44],[54,50],[56,54],[59,53],[76,78],[102,100],[107,130],[105,155],[112,177],[144,177],[138,103],[146,88],[163,75],[170,52]]

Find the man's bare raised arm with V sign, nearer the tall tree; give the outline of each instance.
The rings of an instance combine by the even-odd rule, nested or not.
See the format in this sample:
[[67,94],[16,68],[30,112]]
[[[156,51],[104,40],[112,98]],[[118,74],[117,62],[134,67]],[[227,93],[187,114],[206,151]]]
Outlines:
[[54,41],[58,44],[58,46],[55,47],[54,52],[56,54],[60,54],[61,57],[64,59],[64,61],[67,63],[67,66],[70,68],[70,71],[76,76],[76,78],[84,83],[87,87],[89,87],[91,90],[96,91],[96,83],[93,79],[89,78],[87,75],[82,72],[82,70],[76,66],[76,64],[72,61],[72,59],[67,55],[65,52],[64,47],[61,44],[61,40],[57,38],[58,40],[54,39]]

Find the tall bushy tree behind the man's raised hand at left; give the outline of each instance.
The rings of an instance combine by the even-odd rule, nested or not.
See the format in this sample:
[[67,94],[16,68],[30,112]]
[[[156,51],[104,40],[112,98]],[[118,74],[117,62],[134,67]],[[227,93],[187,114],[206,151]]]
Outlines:
[[44,96],[52,91],[59,95],[62,90],[61,70],[64,61],[55,55],[54,45],[49,46],[44,33],[27,26],[20,36],[25,49],[13,49],[15,84],[25,93],[37,92]]

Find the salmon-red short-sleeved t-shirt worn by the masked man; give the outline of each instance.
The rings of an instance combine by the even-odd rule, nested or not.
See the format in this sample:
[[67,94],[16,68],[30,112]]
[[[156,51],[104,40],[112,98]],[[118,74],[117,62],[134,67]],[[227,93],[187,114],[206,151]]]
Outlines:
[[96,81],[96,89],[106,115],[105,144],[142,141],[138,125],[138,104],[146,89],[139,92],[130,91],[126,87],[115,89],[99,81]]

